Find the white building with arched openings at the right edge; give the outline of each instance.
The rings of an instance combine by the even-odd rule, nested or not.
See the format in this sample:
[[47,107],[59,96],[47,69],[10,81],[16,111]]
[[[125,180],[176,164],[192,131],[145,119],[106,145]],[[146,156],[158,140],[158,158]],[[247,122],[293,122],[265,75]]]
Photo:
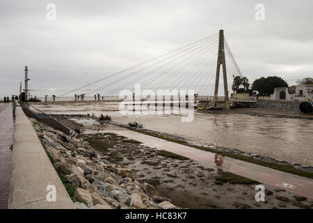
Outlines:
[[313,99],[313,84],[299,84],[297,86],[278,87],[274,89],[271,100],[298,100]]

